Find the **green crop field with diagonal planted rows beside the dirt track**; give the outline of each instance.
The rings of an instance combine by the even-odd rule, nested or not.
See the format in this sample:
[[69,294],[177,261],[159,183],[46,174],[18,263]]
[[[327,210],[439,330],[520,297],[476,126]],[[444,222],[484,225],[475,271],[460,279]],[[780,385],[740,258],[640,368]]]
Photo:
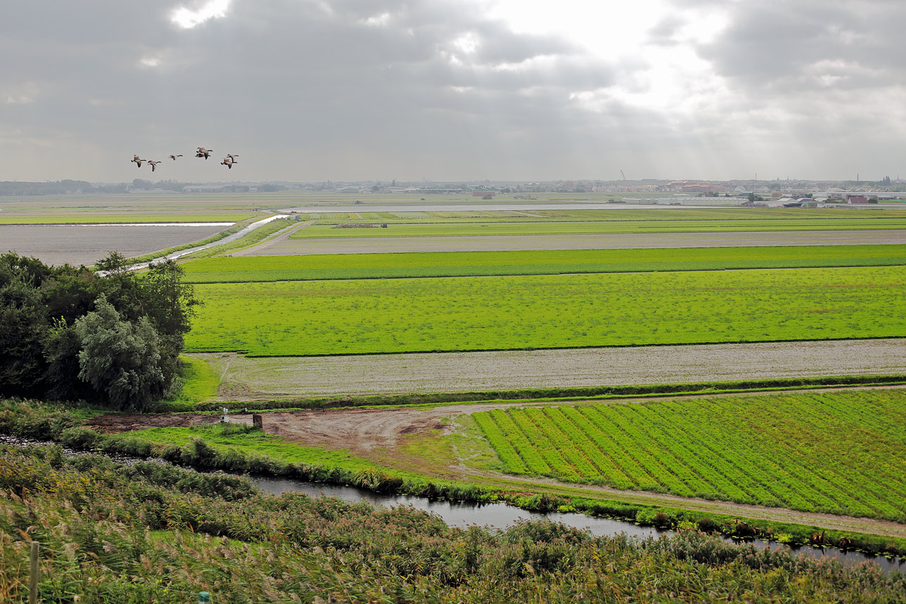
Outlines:
[[472,417],[513,474],[906,521],[901,389]]

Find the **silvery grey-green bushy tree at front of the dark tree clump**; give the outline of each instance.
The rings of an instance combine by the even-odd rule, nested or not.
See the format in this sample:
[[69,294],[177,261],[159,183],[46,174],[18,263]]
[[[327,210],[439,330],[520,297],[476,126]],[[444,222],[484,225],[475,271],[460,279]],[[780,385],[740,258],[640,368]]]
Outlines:
[[79,379],[92,385],[112,406],[143,411],[164,391],[159,336],[147,317],[123,321],[107,298],[75,321],[81,343]]

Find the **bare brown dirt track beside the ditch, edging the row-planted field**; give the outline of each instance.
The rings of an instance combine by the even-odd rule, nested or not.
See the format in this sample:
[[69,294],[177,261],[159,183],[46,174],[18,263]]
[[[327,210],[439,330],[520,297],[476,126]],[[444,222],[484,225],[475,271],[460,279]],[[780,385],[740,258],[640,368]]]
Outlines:
[[[621,403],[645,399],[626,399]],[[569,401],[547,403],[563,405]],[[370,408],[330,409],[319,411],[284,411],[265,413],[264,427],[270,434],[284,436],[305,446],[327,449],[349,449],[362,457],[378,458],[393,465],[411,465],[409,469],[436,475],[448,480],[470,480],[494,484],[501,488],[526,489],[541,487],[546,491],[574,496],[607,497],[617,501],[668,505],[709,513],[729,514],[743,518],[756,518],[786,523],[820,526],[840,531],[906,537],[906,524],[878,521],[867,518],[834,516],[826,513],[805,513],[783,508],[761,507],[742,503],[710,501],[679,497],[678,495],[621,491],[605,486],[562,483],[551,479],[530,478],[484,472],[458,465],[455,467],[429,467],[424,463],[412,465],[407,455],[400,455],[397,446],[406,436],[428,436],[448,427],[458,416],[491,408],[526,407],[525,403],[459,404],[433,408]],[[122,432],[145,427],[188,427],[190,424],[214,423],[213,415],[121,415],[109,414],[92,419],[90,427],[103,432]],[[251,415],[231,416],[231,421],[251,424]],[[418,462],[416,462],[418,464]]]

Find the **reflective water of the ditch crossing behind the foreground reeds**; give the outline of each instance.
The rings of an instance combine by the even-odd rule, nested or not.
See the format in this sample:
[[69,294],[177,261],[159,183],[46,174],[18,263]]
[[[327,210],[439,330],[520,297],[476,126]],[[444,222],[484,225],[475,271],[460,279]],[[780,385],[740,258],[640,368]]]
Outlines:
[[[0,435],[0,445],[60,446],[66,455],[81,455],[84,453],[83,451],[61,446],[57,443],[36,441],[20,438],[18,436]],[[107,455],[114,461],[125,464],[140,461],[169,464],[169,462],[156,458],[145,459],[132,455],[107,453],[101,455]],[[204,469],[200,469],[199,471],[204,471]],[[445,500],[428,499],[427,497],[412,497],[410,495],[378,494],[352,486],[313,483],[272,475],[246,475],[246,477],[251,479],[259,489],[268,494],[279,495],[286,492],[292,492],[306,494],[312,497],[336,497],[350,503],[364,501],[371,503],[371,505],[374,506],[383,507],[408,505],[417,510],[437,514],[448,525],[460,528],[477,525],[492,530],[504,530],[524,520],[550,520],[577,529],[587,530],[595,536],[612,536],[625,532],[631,537],[646,539],[657,538],[662,534],[670,535],[673,533],[673,531],[667,529],[639,526],[638,524],[627,521],[588,516],[583,513],[529,512],[508,503],[449,502]],[[832,547],[791,546],[784,543],[768,542],[763,539],[740,540],[731,539],[730,537],[722,535],[718,535],[718,537],[725,542],[751,543],[758,548],[770,548],[771,550],[788,549],[794,553],[815,559],[834,559],[841,561],[843,564],[857,564],[867,561],[877,564],[885,572],[890,572],[892,570],[906,572],[906,559],[904,558],[886,558],[884,556],[874,556],[862,551],[843,551]]]

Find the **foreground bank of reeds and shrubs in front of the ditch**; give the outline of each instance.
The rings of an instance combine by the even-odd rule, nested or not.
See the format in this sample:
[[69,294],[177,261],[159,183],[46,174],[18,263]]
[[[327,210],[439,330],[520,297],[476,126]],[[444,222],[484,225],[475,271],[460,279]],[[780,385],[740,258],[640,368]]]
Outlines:
[[903,575],[693,530],[636,542],[547,522],[502,533],[407,507],[260,494],[245,479],[0,449],[0,590],[45,602],[900,602]]

